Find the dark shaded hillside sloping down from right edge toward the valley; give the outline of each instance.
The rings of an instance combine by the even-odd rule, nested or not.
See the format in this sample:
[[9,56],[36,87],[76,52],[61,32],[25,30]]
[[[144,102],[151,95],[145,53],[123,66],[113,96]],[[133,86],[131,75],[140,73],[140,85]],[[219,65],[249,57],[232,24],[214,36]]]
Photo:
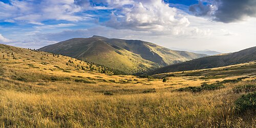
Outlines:
[[170,65],[148,72],[148,75],[177,72],[177,71],[188,71],[198,69],[209,69],[216,67],[223,67],[229,65],[236,65],[239,63],[249,62],[256,60],[256,47],[248,48],[239,52],[221,54],[216,56],[207,56],[175,65]]

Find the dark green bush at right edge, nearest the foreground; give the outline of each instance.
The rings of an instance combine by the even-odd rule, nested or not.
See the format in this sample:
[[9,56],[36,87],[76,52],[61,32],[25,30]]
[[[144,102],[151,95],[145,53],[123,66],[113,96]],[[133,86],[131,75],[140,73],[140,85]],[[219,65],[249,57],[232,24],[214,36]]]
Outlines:
[[244,112],[247,110],[256,110],[256,92],[242,95],[235,102],[236,110]]

